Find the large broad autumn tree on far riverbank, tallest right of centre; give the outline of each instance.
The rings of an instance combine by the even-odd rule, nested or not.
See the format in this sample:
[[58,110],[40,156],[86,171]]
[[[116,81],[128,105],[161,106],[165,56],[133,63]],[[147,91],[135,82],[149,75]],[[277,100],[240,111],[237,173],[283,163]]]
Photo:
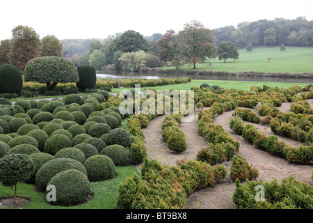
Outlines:
[[195,63],[216,57],[214,34],[197,20],[186,23],[179,35],[182,36],[184,44],[182,47],[184,59],[187,63],[193,63],[193,69],[196,68]]

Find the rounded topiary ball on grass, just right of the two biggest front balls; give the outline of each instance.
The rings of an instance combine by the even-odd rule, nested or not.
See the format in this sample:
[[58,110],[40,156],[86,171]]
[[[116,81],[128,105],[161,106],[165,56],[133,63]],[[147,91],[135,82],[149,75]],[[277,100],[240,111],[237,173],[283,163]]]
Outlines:
[[94,155],[85,161],[88,179],[90,181],[109,180],[115,176],[115,165],[105,155]]

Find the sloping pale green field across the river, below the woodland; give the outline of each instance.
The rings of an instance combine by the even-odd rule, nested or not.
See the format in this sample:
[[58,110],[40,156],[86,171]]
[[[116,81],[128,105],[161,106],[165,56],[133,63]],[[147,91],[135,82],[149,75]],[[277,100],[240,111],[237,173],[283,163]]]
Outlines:
[[[267,58],[271,57],[268,63]],[[208,66],[211,62],[212,66]],[[175,70],[175,67],[164,69]],[[185,65],[181,70],[192,70],[193,66]],[[252,52],[239,49],[239,60],[228,59],[226,63],[218,59],[207,60],[205,63],[197,63],[197,70],[218,70],[230,72],[313,72],[313,48],[312,47],[286,47],[284,52],[280,47],[256,47]]]

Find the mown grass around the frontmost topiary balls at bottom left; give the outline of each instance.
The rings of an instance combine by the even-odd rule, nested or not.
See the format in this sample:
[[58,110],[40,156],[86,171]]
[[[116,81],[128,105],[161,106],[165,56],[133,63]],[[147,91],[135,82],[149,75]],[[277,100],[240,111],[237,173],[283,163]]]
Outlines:
[[[116,209],[118,185],[128,176],[138,173],[135,166],[115,167],[117,176],[111,180],[91,182],[93,199],[78,206],[63,207],[53,206],[46,201],[46,194],[36,192],[33,185],[26,183],[17,184],[17,196],[28,197],[31,201],[23,209]],[[13,197],[14,187],[4,187],[0,184],[0,197]]]

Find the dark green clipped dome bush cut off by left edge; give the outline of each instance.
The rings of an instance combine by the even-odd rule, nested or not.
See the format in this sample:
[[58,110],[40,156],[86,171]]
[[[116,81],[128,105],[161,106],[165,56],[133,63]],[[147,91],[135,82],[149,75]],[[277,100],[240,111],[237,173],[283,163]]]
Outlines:
[[0,66],[0,93],[20,93],[23,86],[21,71],[11,65],[3,64]]

